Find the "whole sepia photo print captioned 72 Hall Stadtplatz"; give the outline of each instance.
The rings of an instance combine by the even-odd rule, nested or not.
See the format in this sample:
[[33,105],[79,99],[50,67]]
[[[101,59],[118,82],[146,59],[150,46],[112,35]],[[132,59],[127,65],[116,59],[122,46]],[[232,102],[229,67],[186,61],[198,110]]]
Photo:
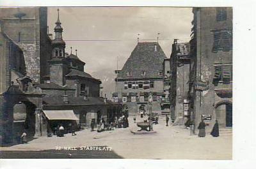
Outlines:
[[1,158],[231,160],[232,13],[0,8]]

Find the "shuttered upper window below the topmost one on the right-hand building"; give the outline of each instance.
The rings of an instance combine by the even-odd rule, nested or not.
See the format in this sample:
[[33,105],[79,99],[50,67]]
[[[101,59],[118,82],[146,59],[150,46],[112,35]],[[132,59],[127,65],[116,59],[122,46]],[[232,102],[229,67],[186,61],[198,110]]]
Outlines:
[[232,50],[232,31],[214,31],[212,52],[218,52],[218,50],[224,52]]

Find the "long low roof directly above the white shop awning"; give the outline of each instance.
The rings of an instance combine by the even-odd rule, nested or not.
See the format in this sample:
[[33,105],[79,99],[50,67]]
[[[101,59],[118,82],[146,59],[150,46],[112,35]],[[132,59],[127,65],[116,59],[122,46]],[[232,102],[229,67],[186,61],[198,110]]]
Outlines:
[[68,97],[68,103],[64,103],[63,96],[51,96],[43,98],[44,105],[48,106],[61,106],[61,105],[72,105],[72,106],[90,106],[90,105],[112,105],[111,101],[104,103],[104,98],[88,97],[84,100],[83,97]]

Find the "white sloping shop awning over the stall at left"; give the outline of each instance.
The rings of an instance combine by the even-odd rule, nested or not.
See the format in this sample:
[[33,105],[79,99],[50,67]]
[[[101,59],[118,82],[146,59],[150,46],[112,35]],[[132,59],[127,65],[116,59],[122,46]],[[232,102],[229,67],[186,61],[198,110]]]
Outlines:
[[73,110],[44,110],[44,114],[49,120],[79,120]]

